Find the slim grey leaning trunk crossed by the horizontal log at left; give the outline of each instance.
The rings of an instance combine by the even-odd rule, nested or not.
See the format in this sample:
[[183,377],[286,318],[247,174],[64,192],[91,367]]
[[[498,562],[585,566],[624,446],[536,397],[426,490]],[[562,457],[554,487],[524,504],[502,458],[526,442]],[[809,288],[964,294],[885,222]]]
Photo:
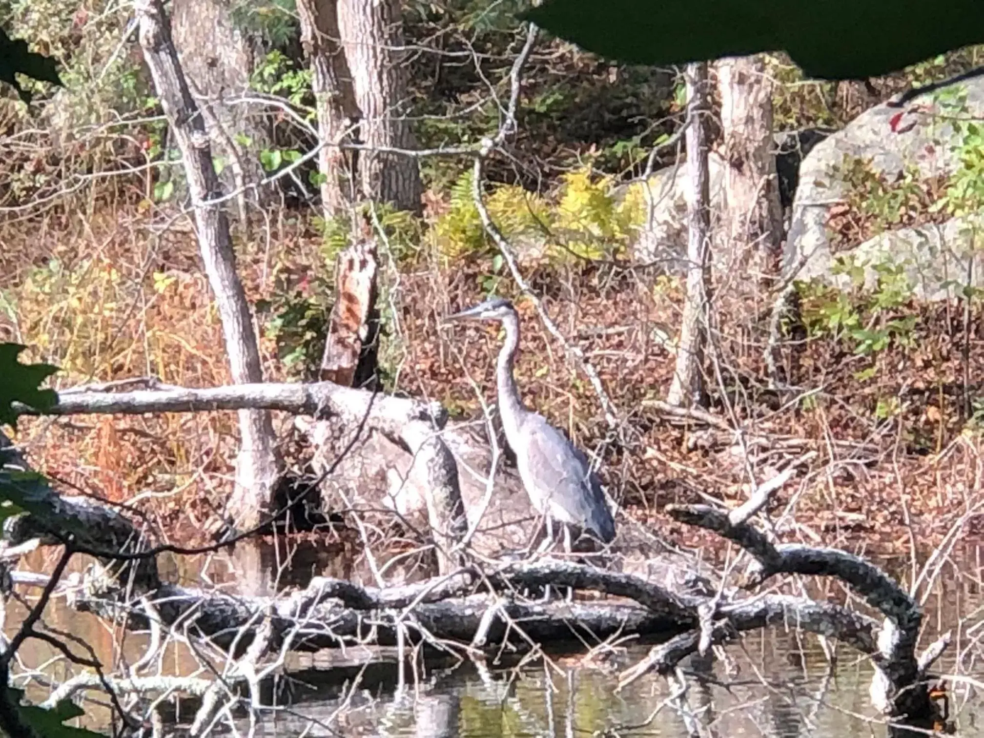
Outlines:
[[[215,175],[205,124],[178,63],[161,0],[139,0],[136,10],[140,19],[140,45],[184,160],[202,259],[215,292],[232,381],[262,382],[260,351],[246,293],[236,274],[229,221],[220,205],[208,204],[221,196],[221,186]],[[229,510],[235,511],[236,523],[252,527],[269,510],[279,475],[270,413],[240,410],[239,431],[241,448]]]

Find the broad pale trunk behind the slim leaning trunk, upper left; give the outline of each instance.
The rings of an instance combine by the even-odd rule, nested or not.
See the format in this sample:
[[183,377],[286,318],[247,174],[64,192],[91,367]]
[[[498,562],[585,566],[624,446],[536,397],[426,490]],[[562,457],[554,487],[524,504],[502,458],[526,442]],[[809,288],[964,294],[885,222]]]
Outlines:
[[[174,46],[191,92],[205,116],[213,151],[225,163],[223,185],[240,192],[239,219],[245,226],[247,201],[260,202],[255,185],[264,177],[259,155],[270,141],[263,119],[250,106],[229,100],[247,92],[259,44],[236,28],[232,0],[173,0]],[[242,137],[246,137],[243,139]]]

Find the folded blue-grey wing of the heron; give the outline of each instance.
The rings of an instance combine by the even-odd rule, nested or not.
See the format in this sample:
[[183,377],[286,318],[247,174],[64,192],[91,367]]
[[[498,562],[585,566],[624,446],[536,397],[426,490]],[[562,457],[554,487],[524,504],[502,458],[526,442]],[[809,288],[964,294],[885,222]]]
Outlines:
[[603,539],[614,536],[614,522],[584,453],[542,415],[530,414],[523,423],[527,476],[535,493],[550,500],[554,516],[593,530]]

